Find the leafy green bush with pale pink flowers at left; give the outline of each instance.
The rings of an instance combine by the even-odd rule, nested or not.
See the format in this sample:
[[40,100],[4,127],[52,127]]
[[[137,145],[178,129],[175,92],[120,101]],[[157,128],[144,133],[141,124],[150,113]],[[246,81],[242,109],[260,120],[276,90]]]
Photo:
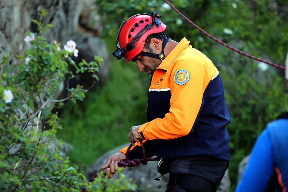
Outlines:
[[77,86],[69,89],[67,98],[55,98],[64,75],[73,78],[68,65],[79,69],[77,73],[89,71],[97,78],[101,59],[95,57],[96,62],[90,63],[83,60],[78,68],[70,57],[75,55],[75,47],[60,49],[60,43],[50,44],[42,36],[47,27],[52,27],[42,27],[45,14],[41,10],[40,21],[33,21],[39,35],[27,33],[25,41],[30,48],[17,57],[17,63],[9,65],[9,58],[4,56],[0,64],[0,191],[79,191],[80,186],[86,186],[87,191],[113,191],[116,185],[117,191],[135,189],[123,181],[123,175],[111,183],[107,176],[99,177],[93,186],[89,185],[83,171],[71,166],[69,158],[59,152],[61,142],[57,141],[55,149],[51,147],[56,131],[61,129],[51,109],[64,100],[83,100],[88,91]]

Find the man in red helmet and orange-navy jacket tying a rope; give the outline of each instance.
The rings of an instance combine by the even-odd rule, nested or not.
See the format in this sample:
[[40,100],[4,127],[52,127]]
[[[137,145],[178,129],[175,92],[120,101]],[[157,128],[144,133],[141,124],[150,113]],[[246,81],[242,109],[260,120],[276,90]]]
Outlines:
[[[169,165],[166,192],[214,192],[230,161],[225,129],[230,116],[219,71],[186,38],[178,43],[165,35],[160,17],[155,12],[134,15],[123,21],[116,38],[113,55],[152,75],[147,123],[130,129],[129,160],[142,159],[138,142],[143,139],[147,158],[155,155]],[[102,167],[109,178],[127,148]]]

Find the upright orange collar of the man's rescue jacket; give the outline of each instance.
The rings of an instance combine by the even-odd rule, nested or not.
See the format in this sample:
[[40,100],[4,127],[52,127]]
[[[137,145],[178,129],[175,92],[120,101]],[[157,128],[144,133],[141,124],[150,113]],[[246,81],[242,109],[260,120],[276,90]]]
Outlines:
[[166,56],[164,61],[160,63],[157,69],[168,70],[169,66],[177,58],[177,56],[189,46],[190,41],[185,37],[176,45],[176,47]]

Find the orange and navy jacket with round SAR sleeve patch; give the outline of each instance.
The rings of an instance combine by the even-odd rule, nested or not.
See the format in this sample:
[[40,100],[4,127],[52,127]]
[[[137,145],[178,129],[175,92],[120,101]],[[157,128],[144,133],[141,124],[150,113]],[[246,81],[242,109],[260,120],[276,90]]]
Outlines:
[[[230,123],[219,71],[183,38],[151,77],[147,123],[138,132],[146,156],[208,156],[230,160]],[[126,154],[127,148],[120,152]],[[136,143],[129,159],[142,159]]]

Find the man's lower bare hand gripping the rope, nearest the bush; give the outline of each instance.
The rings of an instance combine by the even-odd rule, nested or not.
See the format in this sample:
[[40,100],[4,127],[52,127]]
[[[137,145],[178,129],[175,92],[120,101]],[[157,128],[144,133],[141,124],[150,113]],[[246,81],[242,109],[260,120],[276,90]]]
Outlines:
[[123,152],[115,153],[109,157],[106,164],[101,167],[101,169],[105,168],[104,175],[108,174],[108,178],[111,179],[118,169],[118,161],[125,158],[126,156]]

